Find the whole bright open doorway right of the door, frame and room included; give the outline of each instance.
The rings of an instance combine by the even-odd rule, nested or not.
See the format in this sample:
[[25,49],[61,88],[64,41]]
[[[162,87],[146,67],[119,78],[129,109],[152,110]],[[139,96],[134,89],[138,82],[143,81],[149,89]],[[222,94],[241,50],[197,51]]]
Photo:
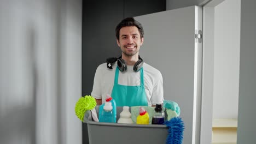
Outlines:
[[240,8],[240,0],[203,5],[200,143],[236,143]]

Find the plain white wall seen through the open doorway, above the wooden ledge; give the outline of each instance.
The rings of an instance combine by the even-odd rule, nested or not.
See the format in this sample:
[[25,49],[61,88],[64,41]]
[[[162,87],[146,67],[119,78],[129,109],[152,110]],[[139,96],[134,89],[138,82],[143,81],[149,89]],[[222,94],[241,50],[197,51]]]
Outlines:
[[214,9],[213,118],[237,118],[240,1],[225,0]]

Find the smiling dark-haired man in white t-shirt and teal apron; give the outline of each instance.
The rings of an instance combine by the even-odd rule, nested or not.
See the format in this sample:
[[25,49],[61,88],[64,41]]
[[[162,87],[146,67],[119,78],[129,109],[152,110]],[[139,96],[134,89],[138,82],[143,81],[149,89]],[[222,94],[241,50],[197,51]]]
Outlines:
[[98,66],[91,92],[97,105],[111,94],[117,106],[155,106],[164,101],[162,75],[159,70],[144,63],[139,49],[144,41],[141,23],[128,17],[115,29],[119,58],[108,58]]

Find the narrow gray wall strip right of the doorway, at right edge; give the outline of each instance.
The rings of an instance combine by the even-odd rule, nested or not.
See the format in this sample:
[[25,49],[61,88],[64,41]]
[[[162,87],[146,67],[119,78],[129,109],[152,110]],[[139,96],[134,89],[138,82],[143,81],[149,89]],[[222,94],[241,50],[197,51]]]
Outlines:
[[240,83],[237,143],[256,141],[256,1],[241,1]]

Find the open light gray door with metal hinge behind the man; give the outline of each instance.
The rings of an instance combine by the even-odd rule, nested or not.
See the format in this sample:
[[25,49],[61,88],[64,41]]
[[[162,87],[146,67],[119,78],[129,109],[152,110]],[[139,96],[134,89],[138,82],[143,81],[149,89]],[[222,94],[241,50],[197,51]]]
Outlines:
[[161,71],[165,100],[176,101],[184,124],[183,143],[199,143],[201,113],[202,8],[191,6],[137,16],[144,28],[139,55]]

